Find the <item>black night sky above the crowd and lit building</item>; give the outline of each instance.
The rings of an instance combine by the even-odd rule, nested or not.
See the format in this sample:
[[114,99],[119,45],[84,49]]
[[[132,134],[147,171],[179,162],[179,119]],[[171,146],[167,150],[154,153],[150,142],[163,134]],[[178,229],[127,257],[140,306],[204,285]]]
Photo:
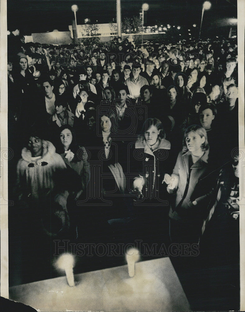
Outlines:
[[[121,0],[122,20],[126,16],[138,15],[142,3],[149,4],[145,26],[155,24],[186,25],[201,22],[201,10],[204,0]],[[210,0],[212,7],[206,11],[203,29],[214,31],[225,26],[227,18],[237,17],[236,0]],[[77,4],[77,24],[83,24],[85,18],[91,22],[116,22],[116,0],[7,0],[8,30],[19,28],[24,35],[35,32],[47,32],[58,29],[68,31],[74,13],[72,4]],[[226,22],[225,22],[226,21]],[[228,25],[226,25],[228,26]]]

